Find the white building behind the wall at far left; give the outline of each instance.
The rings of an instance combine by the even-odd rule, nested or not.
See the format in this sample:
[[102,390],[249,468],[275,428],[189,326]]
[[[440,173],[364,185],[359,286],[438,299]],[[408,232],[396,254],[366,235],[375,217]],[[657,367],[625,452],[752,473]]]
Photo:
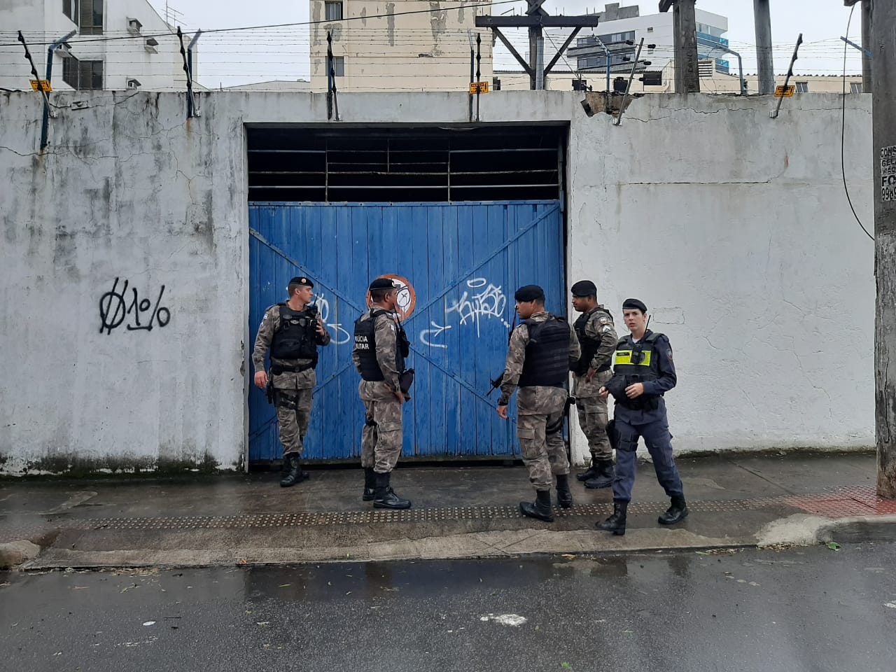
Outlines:
[[[41,78],[47,47],[77,33],[53,55],[54,90],[184,90],[180,42],[146,0],[0,0],[0,89],[30,89],[33,79],[16,31],[29,43]],[[185,46],[192,36],[184,36]],[[194,78],[197,54],[193,54]]]

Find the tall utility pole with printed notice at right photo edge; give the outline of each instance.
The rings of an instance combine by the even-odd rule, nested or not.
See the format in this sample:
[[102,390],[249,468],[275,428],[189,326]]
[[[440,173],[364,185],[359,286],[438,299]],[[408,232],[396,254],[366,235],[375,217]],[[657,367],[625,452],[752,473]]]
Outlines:
[[896,498],[896,3],[875,2],[871,14],[877,494]]

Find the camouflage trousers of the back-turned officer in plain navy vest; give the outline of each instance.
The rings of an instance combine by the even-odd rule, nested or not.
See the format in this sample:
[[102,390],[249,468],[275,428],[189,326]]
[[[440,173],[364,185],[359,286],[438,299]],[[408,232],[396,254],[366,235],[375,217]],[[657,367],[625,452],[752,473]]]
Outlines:
[[536,490],[551,489],[555,476],[569,473],[563,440],[565,400],[566,391],[558,388],[522,388],[517,397],[516,435]]

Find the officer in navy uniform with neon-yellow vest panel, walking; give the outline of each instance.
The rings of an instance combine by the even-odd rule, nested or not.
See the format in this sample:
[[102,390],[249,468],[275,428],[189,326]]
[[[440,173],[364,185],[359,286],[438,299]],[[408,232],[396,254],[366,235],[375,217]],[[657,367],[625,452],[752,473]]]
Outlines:
[[647,306],[637,298],[626,298],[622,305],[625,326],[631,332],[616,344],[616,366],[613,377],[600,389],[616,400],[613,413],[616,433],[616,478],[613,480],[613,515],[596,522],[598,530],[625,534],[625,514],[632,499],[634,474],[637,470],[635,450],[638,438],[653,459],[657,480],[671,498],[666,513],[659,516],[662,525],[674,525],[687,516],[685,492],[672,458],[672,435],[669,434],[664,392],[676,384],[672,346],[665,334],[647,329]]

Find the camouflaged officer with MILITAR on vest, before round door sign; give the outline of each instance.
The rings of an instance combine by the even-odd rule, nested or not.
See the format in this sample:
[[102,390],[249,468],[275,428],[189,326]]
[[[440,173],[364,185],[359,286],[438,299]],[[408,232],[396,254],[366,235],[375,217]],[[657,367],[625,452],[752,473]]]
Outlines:
[[410,399],[407,390],[401,389],[409,342],[395,317],[398,291],[392,280],[377,278],[369,291],[373,305],[355,323],[351,353],[362,378],[358,393],[366,420],[361,433],[362,499],[374,500],[377,509],[409,509],[409,500],[396,495],[390,486],[401,454],[402,404]]

